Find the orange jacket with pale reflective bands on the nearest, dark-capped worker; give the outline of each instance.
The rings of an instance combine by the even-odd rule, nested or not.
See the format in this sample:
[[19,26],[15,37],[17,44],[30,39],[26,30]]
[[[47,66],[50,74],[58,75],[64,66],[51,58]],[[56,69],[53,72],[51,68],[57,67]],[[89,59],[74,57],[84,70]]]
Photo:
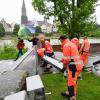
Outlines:
[[[70,62],[71,60],[73,60],[73,62]],[[71,41],[67,41],[63,46],[63,58],[61,61],[68,65],[75,64],[77,71],[83,68],[83,62],[80,60],[78,49]]]

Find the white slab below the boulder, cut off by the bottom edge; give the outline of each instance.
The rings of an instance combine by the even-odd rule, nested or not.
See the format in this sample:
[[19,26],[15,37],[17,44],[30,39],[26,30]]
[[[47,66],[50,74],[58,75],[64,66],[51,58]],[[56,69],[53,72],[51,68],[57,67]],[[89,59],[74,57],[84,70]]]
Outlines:
[[6,96],[4,100],[29,100],[25,91]]

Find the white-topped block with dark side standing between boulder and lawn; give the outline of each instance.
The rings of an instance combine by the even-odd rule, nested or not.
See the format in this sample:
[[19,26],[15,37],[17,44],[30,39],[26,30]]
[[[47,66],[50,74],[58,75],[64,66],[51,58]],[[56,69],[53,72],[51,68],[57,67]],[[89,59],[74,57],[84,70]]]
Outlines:
[[26,78],[29,100],[46,100],[44,85],[39,75]]

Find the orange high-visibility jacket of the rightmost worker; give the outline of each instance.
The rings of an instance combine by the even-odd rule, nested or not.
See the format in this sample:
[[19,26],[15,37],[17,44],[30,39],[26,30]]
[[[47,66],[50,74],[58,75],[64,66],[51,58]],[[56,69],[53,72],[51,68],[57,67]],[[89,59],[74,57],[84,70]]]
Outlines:
[[88,41],[88,39],[83,40],[81,48],[80,48],[80,52],[89,52],[90,49],[90,43]]

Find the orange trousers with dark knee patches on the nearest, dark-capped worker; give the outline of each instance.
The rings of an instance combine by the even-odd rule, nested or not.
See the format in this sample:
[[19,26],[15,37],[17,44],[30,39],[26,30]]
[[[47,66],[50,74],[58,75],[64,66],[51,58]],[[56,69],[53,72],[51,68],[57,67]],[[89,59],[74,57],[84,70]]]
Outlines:
[[77,72],[69,71],[68,72],[68,77],[67,77],[68,84],[67,85],[68,85],[68,92],[69,92],[70,97],[76,96],[77,77],[80,73],[81,71],[77,71]]

